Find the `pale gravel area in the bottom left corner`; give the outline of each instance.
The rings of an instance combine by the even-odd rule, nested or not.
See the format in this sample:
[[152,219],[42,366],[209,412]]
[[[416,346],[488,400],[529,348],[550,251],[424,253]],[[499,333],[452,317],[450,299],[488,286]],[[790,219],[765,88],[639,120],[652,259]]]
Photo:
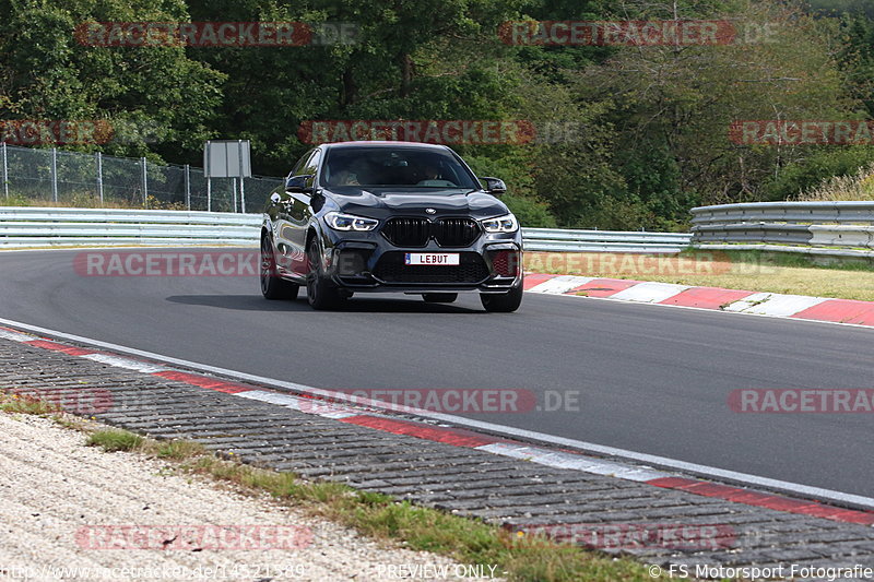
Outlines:
[[[0,413],[0,580],[321,582],[464,573],[448,558],[392,548],[302,510],[177,474],[158,460],[85,447],[85,435],[48,418]],[[218,526],[259,526],[262,534],[235,541]],[[273,526],[281,526],[279,535]],[[194,532],[181,536],[192,542],[185,549],[161,535],[180,527]],[[169,549],[140,549],[155,544]]]

